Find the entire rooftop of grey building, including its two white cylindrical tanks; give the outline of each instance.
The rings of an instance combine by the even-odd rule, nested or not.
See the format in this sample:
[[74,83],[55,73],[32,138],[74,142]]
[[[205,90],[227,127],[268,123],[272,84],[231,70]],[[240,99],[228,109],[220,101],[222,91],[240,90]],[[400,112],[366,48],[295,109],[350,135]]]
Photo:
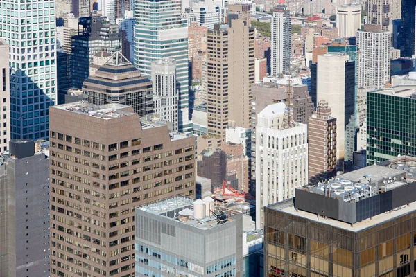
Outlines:
[[[223,209],[219,210],[218,207],[214,206],[214,199],[211,197],[195,200],[189,197],[175,196],[137,208],[204,230],[234,221],[232,219],[234,214],[231,211],[225,211],[224,213]],[[211,213],[211,211],[218,216]]]

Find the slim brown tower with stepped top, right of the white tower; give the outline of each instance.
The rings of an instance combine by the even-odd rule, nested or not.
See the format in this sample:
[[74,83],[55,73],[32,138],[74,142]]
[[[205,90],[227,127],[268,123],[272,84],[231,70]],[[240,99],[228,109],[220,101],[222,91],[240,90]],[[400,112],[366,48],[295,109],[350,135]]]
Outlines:
[[308,122],[308,179],[318,183],[336,175],[336,118],[328,102],[320,100]]

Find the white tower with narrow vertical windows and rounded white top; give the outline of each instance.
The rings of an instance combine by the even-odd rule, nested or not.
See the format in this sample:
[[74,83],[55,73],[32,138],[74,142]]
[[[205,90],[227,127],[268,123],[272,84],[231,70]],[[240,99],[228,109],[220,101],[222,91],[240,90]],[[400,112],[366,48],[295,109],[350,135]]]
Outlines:
[[308,182],[307,125],[288,124],[284,103],[257,114],[256,228],[263,229],[263,207],[295,196]]

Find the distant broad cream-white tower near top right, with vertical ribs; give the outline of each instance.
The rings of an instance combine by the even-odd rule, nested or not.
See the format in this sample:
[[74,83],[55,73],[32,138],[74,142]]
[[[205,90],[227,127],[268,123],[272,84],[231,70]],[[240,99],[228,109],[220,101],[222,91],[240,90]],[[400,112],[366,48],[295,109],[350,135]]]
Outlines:
[[361,5],[340,6],[336,12],[336,28],[339,37],[355,37],[361,28]]

